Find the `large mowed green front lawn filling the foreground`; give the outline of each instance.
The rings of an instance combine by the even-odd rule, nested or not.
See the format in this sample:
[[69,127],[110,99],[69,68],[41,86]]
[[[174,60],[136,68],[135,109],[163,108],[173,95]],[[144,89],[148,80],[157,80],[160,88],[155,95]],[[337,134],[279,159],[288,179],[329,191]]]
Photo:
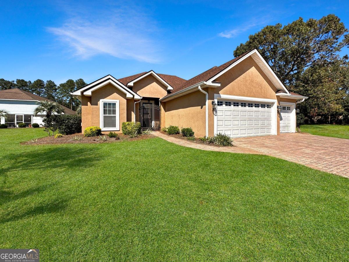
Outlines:
[[349,260],[349,179],[160,138],[19,145],[0,129],[0,248],[41,261]]

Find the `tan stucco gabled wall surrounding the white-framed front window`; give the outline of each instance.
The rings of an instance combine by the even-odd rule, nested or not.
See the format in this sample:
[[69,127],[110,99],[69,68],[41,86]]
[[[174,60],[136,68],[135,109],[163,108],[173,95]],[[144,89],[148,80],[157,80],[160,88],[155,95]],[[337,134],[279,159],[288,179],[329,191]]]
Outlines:
[[[82,132],[88,126],[99,126],[99,100],[101,99],[111,99],[119,100],[119,130],[121,131],[122,122],[127,121],[127,104],[132,104],[131,102],[126,102],[126,94],[121,92],[119,89],[111,84],[103,86],[94,92],[92,92],[91,97],[82,95],[81,97],[81,114],[82,114]],[[132,109],[131,109],[132,110]]]

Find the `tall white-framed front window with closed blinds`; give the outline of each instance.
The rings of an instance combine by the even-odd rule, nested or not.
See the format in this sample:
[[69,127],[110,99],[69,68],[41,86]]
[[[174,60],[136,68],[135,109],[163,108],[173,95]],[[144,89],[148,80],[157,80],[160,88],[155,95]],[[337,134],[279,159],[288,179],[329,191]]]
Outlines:
[[119,101],[101,101],[102,130],[119,129]]

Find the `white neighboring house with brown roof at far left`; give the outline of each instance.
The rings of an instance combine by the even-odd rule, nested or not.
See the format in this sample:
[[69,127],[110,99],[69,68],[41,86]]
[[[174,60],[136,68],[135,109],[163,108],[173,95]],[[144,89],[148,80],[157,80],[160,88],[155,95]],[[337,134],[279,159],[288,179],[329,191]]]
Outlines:
[[[45,115],[34,115],[34,110],[40,101],[50,101],[44,97],[34,95],[19,88],[6,89],[0,91],[0,109],[8,112],[7,119],[1,118],[1,124],[6,123],[8,127],[17,127],[19,123],[38,123],[43,125]],[[64,114],[75,115],[73,110],[62,106]]]

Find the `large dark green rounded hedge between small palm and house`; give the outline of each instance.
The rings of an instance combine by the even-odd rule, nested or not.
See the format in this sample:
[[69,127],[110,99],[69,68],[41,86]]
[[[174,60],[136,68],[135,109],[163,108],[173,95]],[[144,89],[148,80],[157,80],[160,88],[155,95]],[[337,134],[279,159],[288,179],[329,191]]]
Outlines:
[[81,133],[81,116],[78,115],[52,115],[50,117],[54,130],[62,134]]

